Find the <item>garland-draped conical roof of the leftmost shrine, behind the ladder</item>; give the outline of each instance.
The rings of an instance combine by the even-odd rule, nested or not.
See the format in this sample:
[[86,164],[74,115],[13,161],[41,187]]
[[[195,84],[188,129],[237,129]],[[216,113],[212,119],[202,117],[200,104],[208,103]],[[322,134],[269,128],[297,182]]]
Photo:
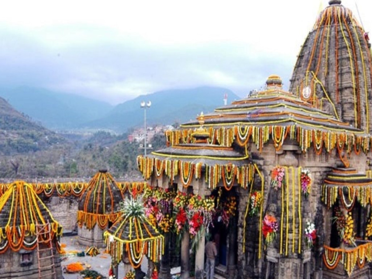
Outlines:
[[58,238],[62,234],[62,227],[53,219],[33,187],[23,181],[10,184],[0,198],[0,254],[9,247],[15,252],[22,248],[34,249],[36,225],[46,223],[51,225],[51,239],[56,241],[59,248]]

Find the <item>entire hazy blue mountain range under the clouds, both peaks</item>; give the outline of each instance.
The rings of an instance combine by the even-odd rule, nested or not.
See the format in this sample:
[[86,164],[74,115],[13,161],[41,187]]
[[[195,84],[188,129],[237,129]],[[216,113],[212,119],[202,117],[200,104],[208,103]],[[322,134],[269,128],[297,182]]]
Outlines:
[[106,130],[117,133],[143,126],[142,101],[151,101],[151,107],[146,109],[148,125],[171,125],[195,119],[201,112],[208,113],[222,106],[225,94],[229,100],[240,99],[231,90],[205,86],[162,90],[112,106],[87,97],[40,88],[0,89],[0,97],[16,110],[54,131]]

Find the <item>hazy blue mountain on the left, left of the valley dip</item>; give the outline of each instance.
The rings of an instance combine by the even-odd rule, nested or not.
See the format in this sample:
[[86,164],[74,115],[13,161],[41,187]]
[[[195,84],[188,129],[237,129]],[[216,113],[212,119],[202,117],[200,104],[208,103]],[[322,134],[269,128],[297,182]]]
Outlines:
[[0,97],[34,121],[54,130],[74,129],[101,118],[113,108],[109,103],[86,97],[32,87],[0,89]]

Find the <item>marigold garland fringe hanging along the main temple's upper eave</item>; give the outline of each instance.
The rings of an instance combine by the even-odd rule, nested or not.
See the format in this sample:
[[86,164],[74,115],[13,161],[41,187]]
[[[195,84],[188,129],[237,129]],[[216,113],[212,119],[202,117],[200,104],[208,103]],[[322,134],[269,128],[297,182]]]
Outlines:
[[[318,119],[322,121],[323,119]],[[232,142],[236,139],[240,146],[245,146],[249,140],[251,140],[257,146],[257,150],[262,151],[263,145],[266,144],[270,139],[273,140],[274,147],[279,150],[285,141],[286,137],[296,140],[299,147],[303,152],[306,152],[311,146],[317,154],[321,154],[323,148],[330,153],[331,150],[337,148],[343,150],[344,146],[347,147],[345,150],[350,153],[352,150],[355,153],[363,151],[367,153],[371,148],[372,137],[360,136],[353,131],[348,131],[347,126],[340,127],[339,130],[327,131],[326,128],[320,129],[315,125],[307,123],[310,126],[308,129],[302,126],[293,125],[275,125],[277,121],[272,123],[256,126],[256,125],[233,125],[230,128],[227,127],[208,127],[210,129],[210,135],[217,138],[217,141],[222,146],[230,147]],[[224,125],[227,125],[224,123]],[[192,133],[193,129],[184,128],[182,130],[166,131],[167,145],[178,145],[180,143],[189,143],[185,138],[181,137],[182,133]],[[214,142],[214,141],[210,141]]]

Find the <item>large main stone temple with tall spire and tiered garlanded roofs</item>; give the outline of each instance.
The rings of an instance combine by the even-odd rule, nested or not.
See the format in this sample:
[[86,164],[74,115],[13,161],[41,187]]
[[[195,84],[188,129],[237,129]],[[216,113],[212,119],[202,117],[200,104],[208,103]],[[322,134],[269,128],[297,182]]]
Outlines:
[[[370,278],[372,59],[364,33],[341,1],[330,1],[298,55],[290,92],[270,76],[264,90],[167,131],[168,148],[138,157],[153,186],[212,198],[217,209],[236,199],[229,225],[216,221],[220,211],[206,228],[218,235],[220,275]],[[203,278],[204,238],[188,264],[189,236],[182,276],[195,264]]]

